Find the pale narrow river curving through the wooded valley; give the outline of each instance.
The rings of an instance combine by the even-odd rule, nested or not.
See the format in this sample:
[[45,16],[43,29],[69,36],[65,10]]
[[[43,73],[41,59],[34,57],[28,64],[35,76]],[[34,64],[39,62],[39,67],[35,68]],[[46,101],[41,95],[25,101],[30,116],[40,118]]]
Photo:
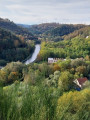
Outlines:
[[29,63],[32,63],[36,60],[37,55],[39,54],[40,51],[40,44],[35,45],[35,50],[32,54],[32,57],[26,60],[25,64],[28,65]]

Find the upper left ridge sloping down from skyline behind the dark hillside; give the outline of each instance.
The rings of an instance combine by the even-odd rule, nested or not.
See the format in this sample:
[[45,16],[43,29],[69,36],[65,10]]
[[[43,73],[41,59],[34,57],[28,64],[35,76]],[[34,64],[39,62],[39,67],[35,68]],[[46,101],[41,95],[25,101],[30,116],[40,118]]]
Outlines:
[[22,28],[18,25],[16,25],[14,22],[8,20],[8,19],[2,19],[0,18],[0,27],[4,28],[6,30],[9,30],[17,35],[24,36],[25,39],[34,40],[37,39],[31,32],[29,32],[27,29]]

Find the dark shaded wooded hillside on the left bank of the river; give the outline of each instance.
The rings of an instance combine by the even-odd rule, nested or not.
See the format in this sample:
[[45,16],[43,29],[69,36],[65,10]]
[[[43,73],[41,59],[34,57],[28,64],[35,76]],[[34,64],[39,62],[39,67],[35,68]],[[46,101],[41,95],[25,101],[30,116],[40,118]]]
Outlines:
[[32,54],[34,42],[26,42],[24,37],[0,28],[0,65],[7,62],[22,61]]

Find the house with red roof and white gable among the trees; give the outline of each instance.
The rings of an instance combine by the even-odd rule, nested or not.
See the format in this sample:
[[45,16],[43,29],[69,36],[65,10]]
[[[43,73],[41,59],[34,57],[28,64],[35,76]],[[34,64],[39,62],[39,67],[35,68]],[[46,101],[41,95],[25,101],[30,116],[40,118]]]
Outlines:
[[81,90],[83,84],[84,84],[86,81],[88,81],[88,79],[87,79],[86,77],[84,77],[84,78],[78,78],[78,79],[74,80],[73,82],[75,83],[75,89],[76,89],[76,90]]

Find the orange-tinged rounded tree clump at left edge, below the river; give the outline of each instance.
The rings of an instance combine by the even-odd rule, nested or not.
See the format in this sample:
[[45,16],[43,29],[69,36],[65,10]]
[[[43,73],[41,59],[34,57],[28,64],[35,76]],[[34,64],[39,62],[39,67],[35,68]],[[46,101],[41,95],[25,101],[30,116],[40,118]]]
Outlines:
[[6,67],[0,70],[0,83],[3,85],[11,84],[16,80],[23,80],[23,65],[20,62],[8,63]]

